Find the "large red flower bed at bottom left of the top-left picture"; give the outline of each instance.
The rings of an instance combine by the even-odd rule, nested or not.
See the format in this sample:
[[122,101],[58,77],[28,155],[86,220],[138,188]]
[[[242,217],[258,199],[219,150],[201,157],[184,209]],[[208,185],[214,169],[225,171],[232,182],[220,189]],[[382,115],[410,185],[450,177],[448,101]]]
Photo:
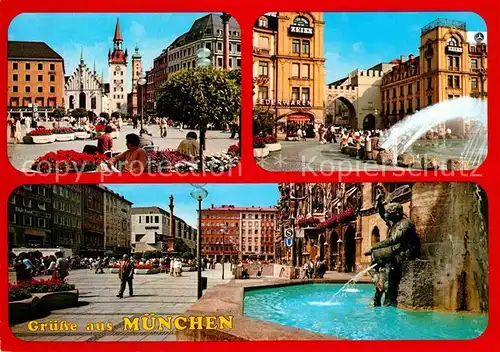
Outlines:
[[100,154],[90,155],[74,150],[58,150],[37,158],[31,169],[39,172],[95,171],[107,159],[107,156]]

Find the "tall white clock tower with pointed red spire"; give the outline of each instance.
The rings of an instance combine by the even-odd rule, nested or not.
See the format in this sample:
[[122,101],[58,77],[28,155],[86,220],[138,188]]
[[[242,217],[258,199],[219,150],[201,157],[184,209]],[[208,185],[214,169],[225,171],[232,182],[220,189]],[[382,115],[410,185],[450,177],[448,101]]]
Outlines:
[[113,52],[108,53],[109,108],[111,112],[127,113],[127,50],[122,49],[123,37],[120,19],[116,20]]

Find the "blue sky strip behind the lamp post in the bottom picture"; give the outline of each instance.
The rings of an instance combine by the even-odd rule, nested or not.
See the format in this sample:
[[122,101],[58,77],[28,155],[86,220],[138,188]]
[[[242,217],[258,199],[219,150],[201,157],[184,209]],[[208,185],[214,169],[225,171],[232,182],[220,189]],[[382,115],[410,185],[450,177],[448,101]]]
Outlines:
[[[158,206],[168,211],[169,197],[174,196],[174,215],[197,227],[198,202],[191,198],[194,189],[189,184],[106,184],[106,187],[124,196],[132,207]],[[208,184],[204,185],[208,196],[203,208],[214,206],[261,206],[277,205],[277,184]]]

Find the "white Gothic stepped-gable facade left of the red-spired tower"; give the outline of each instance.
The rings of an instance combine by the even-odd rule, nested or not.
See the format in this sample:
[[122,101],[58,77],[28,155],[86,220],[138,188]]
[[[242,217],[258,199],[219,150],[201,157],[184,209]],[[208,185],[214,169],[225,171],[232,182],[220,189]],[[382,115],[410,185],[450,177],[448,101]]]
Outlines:
[[[76,70],[66,78],[64,85],[64,103],[67,110],[85,109],[99,116],[107,112],[104,96],[104,79],[96,70],[91,70],[83,60],[83,49],[80,55],[80,64]],[[106,97],[107,98],[107,97]]]

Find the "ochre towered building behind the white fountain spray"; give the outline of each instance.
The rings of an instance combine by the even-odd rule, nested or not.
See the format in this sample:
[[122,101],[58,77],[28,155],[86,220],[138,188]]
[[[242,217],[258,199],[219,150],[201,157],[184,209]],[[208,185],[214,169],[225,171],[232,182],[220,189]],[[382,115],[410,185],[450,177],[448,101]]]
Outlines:
[[[395,123],[435,103],[462,96],[487,97],[485,32],[468,32],[465,22],[437,19],[421,30],[419,56],[401,57],[382,80],[382,114]],[[440,126],[455,135],[463,123]]]

